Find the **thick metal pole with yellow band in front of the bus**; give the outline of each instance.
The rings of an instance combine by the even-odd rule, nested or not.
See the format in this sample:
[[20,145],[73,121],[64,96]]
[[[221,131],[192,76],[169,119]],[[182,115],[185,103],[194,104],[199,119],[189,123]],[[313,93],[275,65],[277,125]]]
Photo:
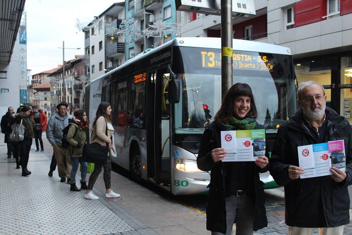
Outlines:
[[232,0],[221,0],[221,96],[232,86]]

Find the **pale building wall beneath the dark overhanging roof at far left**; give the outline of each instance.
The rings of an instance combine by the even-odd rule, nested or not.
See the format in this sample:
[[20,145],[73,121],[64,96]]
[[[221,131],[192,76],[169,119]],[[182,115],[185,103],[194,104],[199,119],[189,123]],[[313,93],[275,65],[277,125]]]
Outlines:
[[[7,71],[7,79],[0,79],[0,115],[12,106],[15,111],[20,106],[21,52],[19,34],[17,34],[10,64],[0,64],[0,71]],[[27,64],[27,63],[26,63]],[[25,84],[27,84],[27,66],[25,69]]]

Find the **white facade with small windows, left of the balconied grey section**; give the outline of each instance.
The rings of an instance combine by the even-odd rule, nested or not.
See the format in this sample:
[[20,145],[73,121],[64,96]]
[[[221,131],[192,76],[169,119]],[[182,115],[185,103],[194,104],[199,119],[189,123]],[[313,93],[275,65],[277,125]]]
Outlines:
[[[99,22],[102,22],[102,28],[99,30]],[[99,18],[90,28],[90,66],[91,66],[91,81],[105,73],[105,16]],[[95,28],[95,35],[92,35],[92,28]],[[103,49],[99,51],[99,42],[103,42]],[[92,54],[92,46],[94,46],[94,54]],[[99,63],[103,62],[103,69],[99,71]],[[94,73],[92,71],[92,65],[95,66]]]

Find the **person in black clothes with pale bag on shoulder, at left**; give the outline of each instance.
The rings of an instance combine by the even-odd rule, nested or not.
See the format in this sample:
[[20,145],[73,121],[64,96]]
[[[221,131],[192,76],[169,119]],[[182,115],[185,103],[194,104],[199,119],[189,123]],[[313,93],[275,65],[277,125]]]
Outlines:
[[25,128],[24,139],[19,141],[19,147],[21,151],[21,167],[22,167],[22,176],[29,176],[32,172],[27,169],[29,152],[32,146],[32,139],[34,138],[35,123],[31,118],[31,107],[25,105],[21,109],[20,113],[16,116],[16,123],[22,124]]

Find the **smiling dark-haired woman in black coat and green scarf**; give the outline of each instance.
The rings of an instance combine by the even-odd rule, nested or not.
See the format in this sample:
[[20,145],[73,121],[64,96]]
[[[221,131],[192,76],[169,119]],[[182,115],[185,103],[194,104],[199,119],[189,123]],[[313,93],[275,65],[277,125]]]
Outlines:
[[262,129],[255,119],[257,111],[253,94],[247,84],[237,83],[225,94],[215,121],[206,126],[197,166],[211,171],[207,229],[211,234],[253,234],[253,230],[266,227],[263,183],[259,173],[266,172],[268,158],[258,156],[255,162],[222,162],[226,156],[221,147],[221,131]]

